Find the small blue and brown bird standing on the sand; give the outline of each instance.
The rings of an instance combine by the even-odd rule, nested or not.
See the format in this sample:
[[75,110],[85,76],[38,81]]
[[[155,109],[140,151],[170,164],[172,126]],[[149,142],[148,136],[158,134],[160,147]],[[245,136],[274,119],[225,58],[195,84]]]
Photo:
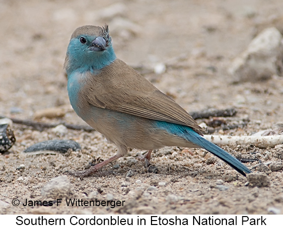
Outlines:
[[251,170],[203,137],[197,122],[172,98],[115,55],[109,26],[85,25],[71,35],[64,69],[76,114],[117,147],[117,153],[84,171],[84,177],[124,156],[128,149],[151,152],[165,146],[202,148],[242,175]]

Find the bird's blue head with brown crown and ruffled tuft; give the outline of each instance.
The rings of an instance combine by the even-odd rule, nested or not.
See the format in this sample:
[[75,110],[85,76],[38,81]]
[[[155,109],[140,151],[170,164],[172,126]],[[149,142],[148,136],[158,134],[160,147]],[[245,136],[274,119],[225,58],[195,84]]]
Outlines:
[[71,35],[64,67],[73,71],[101,70],[116,59],[108,25],[78,27]]

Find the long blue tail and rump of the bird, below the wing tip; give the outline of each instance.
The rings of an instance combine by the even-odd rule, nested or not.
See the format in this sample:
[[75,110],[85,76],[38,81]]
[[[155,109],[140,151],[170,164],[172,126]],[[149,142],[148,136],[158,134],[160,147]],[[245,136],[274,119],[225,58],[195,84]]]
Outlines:
[[156,124],[158,128],[162,128],[170,134],[174,134],[176,136],[184,138],[185,140],[190,141],[191,143],[194,143],[207,151],[210,151],[212,154],[221,158],[223,161],[225,161],[227,164],[229,164],[242,175],[246,176],[246,173],[252,172],[238,159],[236,159],[223,149],[219,148],[217,145],[209,142],[190,127],[168,123],[164,121],[156,121]]

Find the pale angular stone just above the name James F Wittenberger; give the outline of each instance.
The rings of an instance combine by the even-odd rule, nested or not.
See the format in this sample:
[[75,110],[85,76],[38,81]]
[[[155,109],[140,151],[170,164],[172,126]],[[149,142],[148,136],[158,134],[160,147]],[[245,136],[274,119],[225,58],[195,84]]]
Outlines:
[[41,189],[41,196],[56,199],[59,196],[69,196],[71,192],[71,182],[67,176],[58,176],[51,179]]

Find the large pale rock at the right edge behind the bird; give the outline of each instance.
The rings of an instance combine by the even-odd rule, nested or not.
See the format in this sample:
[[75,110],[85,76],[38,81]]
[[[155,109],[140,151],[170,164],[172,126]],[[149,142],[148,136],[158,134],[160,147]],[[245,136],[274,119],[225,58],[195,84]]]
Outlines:
[[[233,82],[258,81],[283,72],[283,37],[275,28],[263,30],[228,69]],[[279,75],[281,76],[281,75]]]

